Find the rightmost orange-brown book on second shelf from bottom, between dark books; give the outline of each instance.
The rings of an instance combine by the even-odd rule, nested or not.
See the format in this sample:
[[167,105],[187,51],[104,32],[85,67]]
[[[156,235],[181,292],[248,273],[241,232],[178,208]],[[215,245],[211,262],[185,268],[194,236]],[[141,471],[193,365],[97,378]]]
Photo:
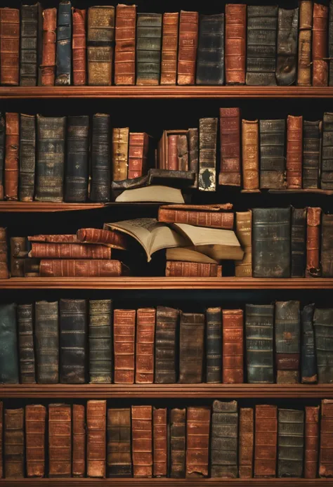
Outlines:
[[222,310],[223,384],[242,384],[243,372],[243,311]]

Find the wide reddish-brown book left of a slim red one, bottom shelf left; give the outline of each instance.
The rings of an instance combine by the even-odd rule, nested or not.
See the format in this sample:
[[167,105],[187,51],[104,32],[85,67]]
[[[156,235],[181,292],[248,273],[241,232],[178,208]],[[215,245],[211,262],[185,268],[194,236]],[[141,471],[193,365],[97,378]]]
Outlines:
[[72,408],[48,405],[48,477],[72,476]]

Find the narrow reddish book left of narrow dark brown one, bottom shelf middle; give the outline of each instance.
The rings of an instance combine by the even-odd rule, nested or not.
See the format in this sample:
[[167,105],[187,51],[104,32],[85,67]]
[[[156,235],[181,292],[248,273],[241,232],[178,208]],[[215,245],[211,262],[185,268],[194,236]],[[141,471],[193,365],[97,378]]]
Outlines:
[[166,408],[153,408],[152,427],[153,427],[153,451],[154,466],[152,474],[155,477],[166,477],[168,470],[168,438]]

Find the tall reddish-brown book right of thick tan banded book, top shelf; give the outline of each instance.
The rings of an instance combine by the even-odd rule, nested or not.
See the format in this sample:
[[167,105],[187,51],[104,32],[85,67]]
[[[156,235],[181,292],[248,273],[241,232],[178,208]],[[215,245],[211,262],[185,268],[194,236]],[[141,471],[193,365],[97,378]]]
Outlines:
[[115,84],[136,84],[136,5],[117,5],[115,39]]

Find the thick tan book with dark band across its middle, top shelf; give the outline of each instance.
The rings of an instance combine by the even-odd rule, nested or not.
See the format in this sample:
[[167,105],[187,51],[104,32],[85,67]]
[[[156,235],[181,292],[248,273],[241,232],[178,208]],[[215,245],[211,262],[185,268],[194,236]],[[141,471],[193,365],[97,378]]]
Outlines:
[[88,9],[87,34],[88,84],[112,84],[115,41],[115,7],[93,6]]

